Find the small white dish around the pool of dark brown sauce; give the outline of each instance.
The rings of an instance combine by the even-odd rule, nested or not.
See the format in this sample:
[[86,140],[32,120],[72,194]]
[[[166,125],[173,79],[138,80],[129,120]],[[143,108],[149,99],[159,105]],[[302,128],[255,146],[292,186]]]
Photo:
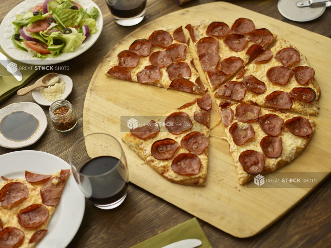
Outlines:
[[[4,118],[9,114],[18,111],[23,111],[25,113],[33,115],[33,117],[38,120],[38,124],[39,124],[37,130],[32,134],[32,136],[30,136],[30,138],[23,141],[13,141],[8,138],[9,136],[12,135],[12,133],[17,132],[18,130],[20,131],[23,128],[26,128],[24,127],[24,125],[18,125],[16,127],[13,126],[13,129],[11,129],[11,132],[9,132],[8,134],[5,134],[5,130],[2,130],[1,128],[3,124],[1,122],[4,120]],[[37,142],[37,140],[39,140],[40,137],[44,134],[46,127],[47,127],[47,118],[45,112],[38,104],[36,103],[9,104],[8,106],[5,106],[0,109],[0,146],[5,148],[22,148],[28,145],[32,145],[35,142]],[[14,128],[16,128],[16,130]],[[4,135],[7,136],[8,138],[5,138]]]

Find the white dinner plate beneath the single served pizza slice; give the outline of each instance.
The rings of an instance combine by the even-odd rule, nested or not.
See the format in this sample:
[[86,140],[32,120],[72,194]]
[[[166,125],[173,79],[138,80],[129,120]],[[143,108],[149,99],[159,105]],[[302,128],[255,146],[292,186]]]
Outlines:
[[[0,156],[0,176],[7,178],[24,178],[25,170],[47,175],[61,169],[71,167],[61,158],[42,151],[14,151]],[[48,223],[48,231],[36,248],[65,248],[75,236],[84,210],[85,197],[71,173]]]

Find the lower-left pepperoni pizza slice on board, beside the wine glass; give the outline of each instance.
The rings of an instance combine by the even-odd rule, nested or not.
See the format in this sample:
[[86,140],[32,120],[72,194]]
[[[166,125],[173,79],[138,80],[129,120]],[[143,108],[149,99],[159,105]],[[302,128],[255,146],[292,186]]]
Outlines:
[[169,181],[204,186],[207,179],[211,97],[190,103],[131,129],[122,140]]

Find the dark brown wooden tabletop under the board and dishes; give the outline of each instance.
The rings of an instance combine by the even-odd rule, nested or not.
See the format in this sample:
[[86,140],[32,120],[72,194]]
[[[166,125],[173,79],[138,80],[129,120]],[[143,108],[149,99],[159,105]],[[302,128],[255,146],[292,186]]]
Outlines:
[[[182,8],[213,1],[192,0],[179,7],[174,0],[148,0],[145,19],[133,27],[116,24],[105,0],[95,0],[95,2],[102,10],[104,19],[100,38],[74,62],[58,64],[59,66],[69,66],[69,70],[62,73],[73,80],[74,87],[67,100],[72,103],[76,111],[78,118],[76,127],[68,133],[56,131],[50,122],[48,107],[41,106],[46,113],[48,126],[40,140],[34,145],[21,149],[0,147],[0,155],[15,150],[39,150],[52,153],[69,162],[71,146],[83,135],[83,104],[90,79],[107,52],[125,35],[149,21]],[[330,9],[326,9],[325,13],[316,20],[294,22],[280,15],[277,10],[277,2],[278,0],[232,1],[233,4],[241,7],[331,38]],[[12,7],[13,3],[10,0],[1,1],[0,21]],[[45,73],[45,71],[41,72],[39,76]],[[34,83],[39,76],[28,85]],[[19,102],[34,102],[34,100],[31,93],[22,97],[14,94],[0,103],[0,108]],[[213,247],[329,247],[331,244],[330,189],[331,178],[328,178],[278,222],[251,238],[236,238],[204,221],[199,220],[199,223]],[[127,198],[114,210],[98,209],[86,200],[83,221],[68,247],[130,247],[193,217],[130,183]]]

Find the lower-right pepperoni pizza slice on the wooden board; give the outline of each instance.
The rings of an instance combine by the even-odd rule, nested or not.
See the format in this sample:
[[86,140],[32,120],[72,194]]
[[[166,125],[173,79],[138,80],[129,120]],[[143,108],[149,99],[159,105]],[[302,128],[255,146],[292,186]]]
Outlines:
[[241,185],[257,174],[290,163],[314,133],[315,122],[311,119],[278,109],[229,102],[216,100],[225,127],[224,139],[229,143]]

